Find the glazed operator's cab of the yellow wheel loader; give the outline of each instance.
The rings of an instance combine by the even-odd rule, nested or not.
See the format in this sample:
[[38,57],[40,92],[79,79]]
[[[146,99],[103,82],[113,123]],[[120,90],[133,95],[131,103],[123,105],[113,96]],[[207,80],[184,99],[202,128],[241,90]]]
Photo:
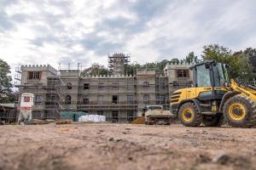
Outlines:
[[209,60],[190,69],[193,71],[193,87],[199,92],[198,99],[222,99],[226,93],[224,86],[230,82],[226,65]]

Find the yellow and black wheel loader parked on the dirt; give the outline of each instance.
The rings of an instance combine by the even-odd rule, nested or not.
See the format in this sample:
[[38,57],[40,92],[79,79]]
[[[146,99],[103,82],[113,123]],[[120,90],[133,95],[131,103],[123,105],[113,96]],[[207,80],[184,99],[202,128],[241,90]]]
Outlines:
[[187,127],[256,126],[256,87],[229,80],[228,65],[215,60],[193,65],[192,88],[172,94],[171,110]]

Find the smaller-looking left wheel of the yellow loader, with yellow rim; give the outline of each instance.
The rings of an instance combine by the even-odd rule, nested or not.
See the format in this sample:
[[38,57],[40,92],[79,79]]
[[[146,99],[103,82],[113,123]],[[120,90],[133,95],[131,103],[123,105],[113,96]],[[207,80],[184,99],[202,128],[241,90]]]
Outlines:
[[183,104],[178,111],[178,118],[186,127],[198,127],[202,122],[201,113],[194,103]]

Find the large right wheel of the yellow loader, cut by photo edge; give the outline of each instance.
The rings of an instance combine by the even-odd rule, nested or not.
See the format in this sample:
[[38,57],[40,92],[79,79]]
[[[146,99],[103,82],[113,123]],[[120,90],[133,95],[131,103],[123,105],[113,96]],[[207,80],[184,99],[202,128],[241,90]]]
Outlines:
[[253,127],[256,125],[256,104],[236,95],[224,104],[224,118],[232,127]]

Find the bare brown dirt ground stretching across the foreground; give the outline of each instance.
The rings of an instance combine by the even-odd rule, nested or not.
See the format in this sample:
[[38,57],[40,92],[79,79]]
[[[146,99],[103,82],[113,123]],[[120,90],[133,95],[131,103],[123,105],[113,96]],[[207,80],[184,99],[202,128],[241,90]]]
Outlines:
[[2,169],[256,169],[256,128],[6,125]]

